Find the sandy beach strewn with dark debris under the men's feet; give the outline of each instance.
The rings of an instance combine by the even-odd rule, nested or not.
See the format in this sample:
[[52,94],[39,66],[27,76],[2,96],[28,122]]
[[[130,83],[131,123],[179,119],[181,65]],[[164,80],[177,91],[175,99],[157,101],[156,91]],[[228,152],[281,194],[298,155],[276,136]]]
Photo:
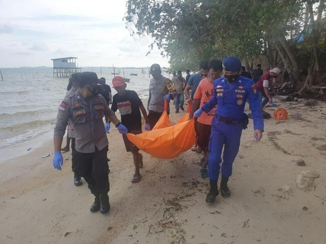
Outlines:
[[[143,179],[132,184],[132,155],[114,128],[108,134],[111,211],[93,214],[85,180],[73,185],[71,152],[57,171],[52,140],[44,140],[0,164],[0,243],[326,243],[326,103],[277,105],[289,118],[265,120],[259,143],[250,121],[229,182],[232,195],[212,205],[205,202],[202,156],[190,150],[173,160],[143,153]],[[273,116],[274,109],[266,111]],[[172,109],[170,120],[183,114]],[[296,164],[300,159],[306,166]],[[307,192],[296,185],[305,170],[320,174]]]

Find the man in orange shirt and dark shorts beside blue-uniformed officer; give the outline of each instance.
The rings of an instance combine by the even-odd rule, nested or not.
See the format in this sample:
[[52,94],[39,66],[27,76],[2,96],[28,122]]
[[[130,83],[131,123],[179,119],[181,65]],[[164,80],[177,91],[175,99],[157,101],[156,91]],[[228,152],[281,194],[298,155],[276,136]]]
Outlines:
[[[209,73],[208,77],[202,79],[199,83],[196,93],[194,95],[194,102],[189,114],[189,119],[194,116],[194,112],[207,103],[213,96],[214,80],[221,77],[222,73],[222,61],[218,59],[212,59],[208,63]],[[214,116],[216,106],[210,110],[209,113],[202,113],[197,120],[197,143],[202,148],[205,154],[205,160],[200,169],[200,174],[203,178],[208,177],[208,171],[206,169],[208,162],[208,143],[210,138],[212,118]]]

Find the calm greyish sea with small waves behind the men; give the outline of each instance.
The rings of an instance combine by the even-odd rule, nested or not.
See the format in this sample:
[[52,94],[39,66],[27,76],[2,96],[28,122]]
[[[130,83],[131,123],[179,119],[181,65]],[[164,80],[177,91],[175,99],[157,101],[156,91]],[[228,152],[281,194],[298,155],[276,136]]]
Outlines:
[[[53,130],[58,107],[66,94],[68,78],[53,77],[52,68],[2,68],[4,81],[0,89],[0,148],[29,140]],[[140,97],[148,94],[150,78],[148,70],[124,69],[130,78],[127,88]],[[83,68],[96,72],[112,85],[112,68]],[[117,72],[117,70],[116,70]],[[122,69],[120,75],[123,76]],[[138,76],[130,76],[130,73]],[[169,76],[168,76],[169,77]],[[0,77],[1,79],[1,77]],[[113,89],[113,94],[115,90]]]

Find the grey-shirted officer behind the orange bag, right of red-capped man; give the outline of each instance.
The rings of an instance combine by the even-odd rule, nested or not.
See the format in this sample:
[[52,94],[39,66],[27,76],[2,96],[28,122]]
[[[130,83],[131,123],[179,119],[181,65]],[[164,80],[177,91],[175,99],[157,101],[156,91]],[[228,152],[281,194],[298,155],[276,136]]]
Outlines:
[[158,64],[151,66],[150,73],[153,79],[149,83],[147,108],[149,124],[153,129],[164,111],[164,100],[170,102],[177,96],[177,92],[171,80],[162,76],[161,67]]

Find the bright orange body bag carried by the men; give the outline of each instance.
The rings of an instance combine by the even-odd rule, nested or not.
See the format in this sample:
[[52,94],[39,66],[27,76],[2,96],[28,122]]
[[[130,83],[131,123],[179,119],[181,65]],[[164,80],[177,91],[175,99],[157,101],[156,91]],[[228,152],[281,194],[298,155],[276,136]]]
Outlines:
[[173,159],[190,149],[195,143],[195,120],[187,120],[187,113],[182,117],[185,121],[179,122],[181,120],[179,119],[178,124],[171,126],[166,110],[167,103],[164,113],[152,131],[138,135],[128,133],[127,137],[139,149],[156,158]]

